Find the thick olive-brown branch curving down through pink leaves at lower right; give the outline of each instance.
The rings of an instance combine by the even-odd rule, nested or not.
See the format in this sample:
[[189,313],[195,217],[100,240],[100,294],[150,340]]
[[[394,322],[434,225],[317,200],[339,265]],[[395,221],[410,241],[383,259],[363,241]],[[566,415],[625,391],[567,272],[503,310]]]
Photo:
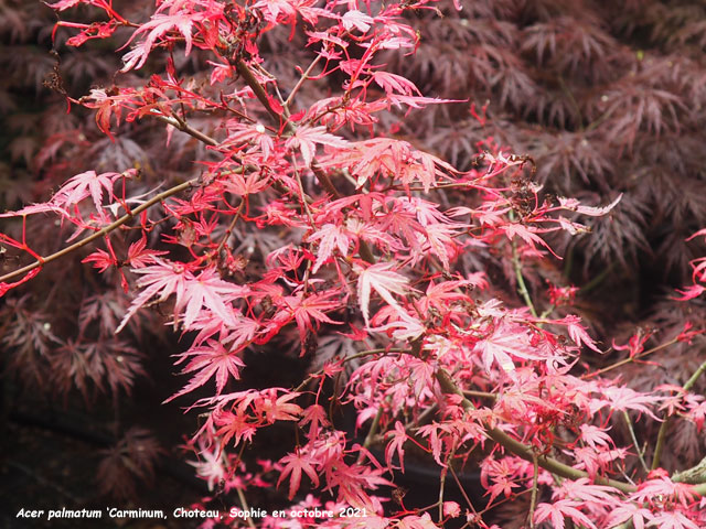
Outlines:
[[[464,410],[474,410],[475,407],[473,403],[463,397],[463,392],[459,389],[459,387],[451,380],[451,377],[443,368],[438,368],[436,374],[436,379],[441,387],[441,390],[448,395],[458,395],[461,397],[461,407]],[[574,468],[571,466],[565,465],[564,463],[548,457],[546,455],[537,455],[530,446],[521,443],[520,441],[511,438],[502,430],[498,428],[489,428],[485,427],[485,434],[495,441],[498,444],[502,445],[509,452],[515,454],[517,457],[521,457],[530,463],[534,463],[535,458],[537,464],[544,468],[545,471],[549,471],[552,474],[556,474],[561,477],[566,477],[568,479],[580,479],[582,477],[588,477],[587,472],[579,471],[578,468]],[[593,482],[598,485],[607,485],[609,487],[616,488],[622,493],[633,493],[638,489],[634,485],[629,483],[619,482],[616,479],[610,479],[601,476],[596,476]]]

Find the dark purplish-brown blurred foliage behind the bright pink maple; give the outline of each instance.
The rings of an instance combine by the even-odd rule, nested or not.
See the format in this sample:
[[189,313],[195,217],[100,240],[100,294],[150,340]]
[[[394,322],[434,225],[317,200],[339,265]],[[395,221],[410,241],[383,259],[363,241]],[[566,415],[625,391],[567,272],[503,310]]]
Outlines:
[[[142,2],[118,3],[136,20],[143,19],[139,11],[149,8]],[[703,322],[703,302],[684,305],[670,296],[688,282],[689,260],[704,252],[686,238],[706,226],[706,2],[462,4],[460,12],[450,2],[441,4],[441,11],[418,11],[414,23],[422,40],[417,54],[386,57],[425,95],[460,102],[408,117],[393,112],[376,127],[463,170],[471,168],[481,142],[493,137],[512,152],[532,156],[534,177],[546,194],[592,204],[622,194],[619,207],[596,218],[590,234],[550,240],[557,253],[566,256],[563,261],[537,261],[525,270],[541,309],[548,306],[547,280],[581,288],[573,311],[602,338],[603,349],[613,337],[627,342],[638,328],[659,330],[650,342],[654,345],[677,334],[685,321]],[[84,8],[77,12],[90,15]],[[92,87],[109,87],[119,68],[114,50],[126,37],[117,32],[113,42],[76,50],[64,45],[71,31],[60,29],[54,44],[57,63],[50,54],[55,22],[52,10],[40,2],[0,0],[0,208],[45,199],[67,177],[89,169],[139,168],[143,192],[196,174],[190,160],[207,159],[207,153],[191,137],[174,133],[165,148],[163,127],[145,120],[122,123],[111,141],[98,131],[88,111],[74,107],[66,112],[61,89],[77,98]],[[265,68],[282,86],[292,86],[298,78],[295,65],[312,57],[302,35],[295,34],[292,41],[286,31],[265,33],[259,43]],[[175,61],[181,75],[207,84],[199,53]],[[130,76],[145,72],[149,64],[138,73],[121,74],[120,82],[129,83]],[[60,91],[45,86],[56,74],[62,79]],[[54,88],[56,80],[50,83]],[[301,94],[301,105],[328,96],[325,84],[312,84]],[[478,117],[471,114],[471,104]],[[215,122],[208,117],[190,120],[217,137],[222,131],[215,130]],[[449,193],[442,199],[459,204],[466,198]],[[28,239],[43,253],[56,251],[63,245],[56,237],[60,229],[52,223],[34,226]],[[65,239],[68,231],[62,234]],[[126,247],[132,241],[130,234],[124,239]],[[165,355],[156,350],[176,352],[180,346],[165,337],[157,311],[142,311],[130,321],[128,333],[113,334],[129,299],[117,277],[106,280],[79,263],[89,251],[49,267],[0,307],[6,441],[26,424],[22,418],[53,410],[58,398],[68,409],[84,410],[81,423],[90,424],[86,431],[106,432],[107,445],[125,447],[135,440],[135,428],[149,425],[153,436],[138,430],[138,439],[157,457],[153,439],[171,451],[180,439],[178,429],[167,423],[173,425],[173,418],[182,415],[176,407],[158,403],[153,411],[137,408],[140,414],[131,399],[140,391],[162,397],[172,392],[140,385],[147,384],[145,374],[162,380],[157,373],[170,370]],[[512,274],[492,251],[464,259],[482,259],[489,273],[512,290]],[[11,252],[2,253],[0,271],[18,264]],[[681,385],[703,350],[697,339],[655,355],[655,366],[632,366],[622,376],[641,389]],[[613,350],[590,361],[614,361],[620,355],[624,353]],[[142,381],[130,395],[136,380]],[[146,400],[159,402],[160,397]],[[160,420],[160,414],[169,420]],[[193,428],[184,424],[182,433]],[[678,456],[668,454],[665,466],[703,456],[703,441],[694,432],[675,433],[684,450]],[[19,457],[14,454],[6,456],[4,472]],[[103,455],[104,464],[120,465],[115,451]],[[96,454],[95,461],[99,458]],[[126,479],[99,493],[129,496],[133,489],[128,478],[149,478],[152,465],[150,458],[141,471],[120,474]]]

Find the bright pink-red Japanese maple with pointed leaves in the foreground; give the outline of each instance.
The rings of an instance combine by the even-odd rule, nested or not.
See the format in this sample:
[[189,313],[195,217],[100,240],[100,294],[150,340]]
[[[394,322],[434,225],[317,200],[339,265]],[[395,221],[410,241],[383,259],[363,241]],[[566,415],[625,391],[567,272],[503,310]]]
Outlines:
[[[36,348],[73,374],[65,385],[128,389],[143,370],[121,335],[139,333],[159,307],[184,344],[174,355],[183,387],[163,399],[197,410],[190,463],[243,510],[248,492],[275,486],[292,508],[334,511],[296,520],[304,527],[431,528],[459,518],[490,527],[489,511],[510,498],[524,499],[526,527],[706,525],[706,471],[660,465],[670,422],[703,428],[704,398],[693,388],[706,363],[686,384],[650,390],[611,378],[617,364],[591,367],[606,347],[571,312],[576,288],[557,281],[541,293],[525,282],[528,264],[560,259],[559,234],[610,219],[622,195],[589,205],[545,193],[535,160],[491,137],[457,168],[398,133],[426,107],[464,105],[485,125],[484,109],[458,94],[427,93],[389,69],[393,60],[417,64],[425,24],[414,24],[460,17],[470,2],[118,3],[51,4],[69,46],[122,39],[111,85],[73,94],[57,66],[54,88],[73,111],[90,109],[110,140],[147,128],[163,149],[185,149],[190,163],[157,187],[143,173],[159,175],[158,166],[86,168],[45,202],[0,215],[0,241],[22,260],[0,278],[0,294],[74,252],[110,285],[86,296],[79,336],[51,354],[58,338],[36,316],[26,324]],[[89,22],[73,18],[83,8]],[[530,51],[554,53],[533,39]],[[601,43],[587,42],[592,57]],[[520,87],[503,99],[524,83],[510,72]],[[625,149],[637,141],[623,140]],[[47,219],[65,238],[60,249],[32,238]],[[704,291],[704,262],[692,262],[685,302]],[[622,364],[638,364],[688,343],[697,323],[656,347],[644,334],[613,347],[629,350]],[[244,384],[246,353],[272,347],[310,359],[308,373],[296,386]],[[660,424],[654,439],[638,439],[645,422]],[[279,460],[254,467],[263,431],[282,424],[290,435]],[[111,458],[150,444],[141,431],[132,438]],[[391,501],[413,447],[441,468],[438,500],[424,508]],[[446,481],[474,467],[484,505],[445,498]],[[340,516],[349,507],[361,516]]]

